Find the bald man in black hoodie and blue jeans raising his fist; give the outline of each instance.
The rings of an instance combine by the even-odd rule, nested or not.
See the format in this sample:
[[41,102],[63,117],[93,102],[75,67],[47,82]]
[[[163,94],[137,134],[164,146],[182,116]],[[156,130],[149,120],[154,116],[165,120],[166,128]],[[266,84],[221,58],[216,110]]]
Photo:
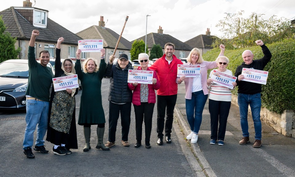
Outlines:
[[243,81],[245,76],[242,74],[243,68],[263,70],[265,65],[270,61],[272,55],[269,49],[263,44],[262,40],[255,41],[257,45],[260,45],[264,56],[259,60],[253,60],[253,53],[250,50],[245,50],[242,53],[244,62],[238,66],[234,74],[238,77],[238,105],[240,109],[241,128],[243,138],[239,144],[249,143],[249,132],[248,132],[248,105],[250,105],[252,118],[255,129],[255,142],[253,147],[259,148],[261,146],[261,121],[260,121],[260,109],[261,109],[261,84]]

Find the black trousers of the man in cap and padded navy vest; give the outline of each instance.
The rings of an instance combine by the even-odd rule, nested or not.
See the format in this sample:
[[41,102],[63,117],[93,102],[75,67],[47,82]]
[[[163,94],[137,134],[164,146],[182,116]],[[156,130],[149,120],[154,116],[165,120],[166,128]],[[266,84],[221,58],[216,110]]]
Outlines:
[[122,140],[128,141],[128,134],[130,128],[131,116],[131,102],[125,104],[116,104],[110,102],[109,104],[109,118],[108,118],[108,141],[115,142],[117,123],[121,115],[122,126]]

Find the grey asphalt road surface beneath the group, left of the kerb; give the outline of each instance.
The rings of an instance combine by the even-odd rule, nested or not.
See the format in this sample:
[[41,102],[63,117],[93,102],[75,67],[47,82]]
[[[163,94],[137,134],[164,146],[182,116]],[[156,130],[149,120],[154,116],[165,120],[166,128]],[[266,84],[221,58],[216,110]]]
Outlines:
[[[102,100],[104,101],[103,108],[107,119],[104,136],[104,143],[106,143],[108,139],[109,111],[108,78],[103,79],[101,89]],[[76,122],[79,114],[80,96],[81,91],[76,96]],[[121,144],[119,119],[116,145],[110,151],[102,151],[95,148],[97,143],[96,126],[92,126],[92,149],[88,152],[83,152],[85,144],[83,127],[77,124],[79,148],[72,150],[72,154],[55,155],[52,151],[53,144],[45,141],[45,146],[49,153],[41,154],[40,152],[33,151],[35,159],[27,159],[22,150],[26,127],[25,112],[0,111],[0,176],[195,176],[183,153],[174,128],[171,134],[171,144],[156,145],[156,109],[153,115],[151,149],[146,149],[144,146],[134,148],[136,139],[133,106],[131,115],[130,147],[124,147]],[[174,124],[177,125],[176,122]],[[34,138],[36,138],[36,135]]]

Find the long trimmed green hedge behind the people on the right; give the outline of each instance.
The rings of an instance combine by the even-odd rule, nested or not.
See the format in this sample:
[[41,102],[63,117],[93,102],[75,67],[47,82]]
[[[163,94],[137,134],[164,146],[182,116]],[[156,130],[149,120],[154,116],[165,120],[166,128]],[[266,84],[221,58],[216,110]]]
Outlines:
[[[295,110],[295,40],[288,39],[273,44],[265,44],[272,53],[271,61],[264,70],[269,71],[266,85],[262,85],[262,106],[270,111],[281,113],[285,109]],[[238,65],[243,62],[242,53],[249,49],[254,54],[254,60],[263,57],[260,46],[225,50],[224,55],[230,59],[227,69],[235,73]],[[220,53],[214,48],[203,55],[204,60],[214,61]],[[208,75],[210,70],[208,70]],[[238,89],[232,91],[237,95]]]

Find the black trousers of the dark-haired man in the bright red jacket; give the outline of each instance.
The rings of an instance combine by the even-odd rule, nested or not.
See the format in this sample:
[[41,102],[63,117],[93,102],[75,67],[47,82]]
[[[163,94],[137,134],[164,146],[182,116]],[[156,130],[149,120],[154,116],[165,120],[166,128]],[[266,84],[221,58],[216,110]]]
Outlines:
[[157,133],[158,138],[163,138],[163,129],[165,123],[165,111],[166,111],[166,123],[165,123],[165,136],[171,136],[171,129],[173,124],[173,111],[177,100],[176,95],[157,95]]

